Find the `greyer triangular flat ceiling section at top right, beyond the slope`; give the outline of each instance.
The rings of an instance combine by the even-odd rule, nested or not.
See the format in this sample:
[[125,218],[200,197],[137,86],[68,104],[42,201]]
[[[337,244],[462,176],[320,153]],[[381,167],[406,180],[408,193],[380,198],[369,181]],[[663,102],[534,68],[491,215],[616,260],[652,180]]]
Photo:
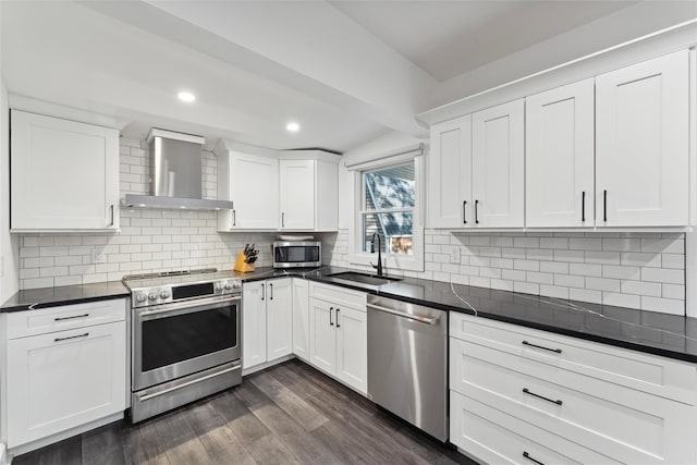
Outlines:
[[636,1],[332,1],[438,81],[554,37]]

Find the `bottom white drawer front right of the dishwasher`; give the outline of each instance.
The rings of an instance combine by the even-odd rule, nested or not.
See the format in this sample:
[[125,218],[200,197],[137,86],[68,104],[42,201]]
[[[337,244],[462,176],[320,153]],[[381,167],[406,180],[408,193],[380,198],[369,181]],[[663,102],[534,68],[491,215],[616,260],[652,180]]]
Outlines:
[[450,441],[497,465],[621,463],[454,391],[450,394]]

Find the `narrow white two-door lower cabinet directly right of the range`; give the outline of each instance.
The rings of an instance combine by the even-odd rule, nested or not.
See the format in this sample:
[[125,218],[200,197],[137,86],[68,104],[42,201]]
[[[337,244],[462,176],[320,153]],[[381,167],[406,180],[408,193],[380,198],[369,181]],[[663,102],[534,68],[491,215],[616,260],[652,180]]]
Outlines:
[[244,283],[242,287],[242,368],[293,353],[291,278]]

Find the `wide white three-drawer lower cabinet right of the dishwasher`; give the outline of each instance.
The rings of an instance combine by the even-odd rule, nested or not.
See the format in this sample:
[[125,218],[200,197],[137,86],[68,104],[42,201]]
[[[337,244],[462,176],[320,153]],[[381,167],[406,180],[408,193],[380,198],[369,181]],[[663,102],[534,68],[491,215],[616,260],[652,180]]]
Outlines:
[[450,335],[451,442],[478,458],[697,463],[694,365],[456,313]]

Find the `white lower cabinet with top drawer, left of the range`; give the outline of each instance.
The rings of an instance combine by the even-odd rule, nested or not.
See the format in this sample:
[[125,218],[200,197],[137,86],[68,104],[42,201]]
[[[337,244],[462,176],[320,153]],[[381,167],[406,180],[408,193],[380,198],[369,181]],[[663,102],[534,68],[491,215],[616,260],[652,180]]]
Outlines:
[[7,315],[11,452],[123,415],[130,391],[125,314],[121,298]]

